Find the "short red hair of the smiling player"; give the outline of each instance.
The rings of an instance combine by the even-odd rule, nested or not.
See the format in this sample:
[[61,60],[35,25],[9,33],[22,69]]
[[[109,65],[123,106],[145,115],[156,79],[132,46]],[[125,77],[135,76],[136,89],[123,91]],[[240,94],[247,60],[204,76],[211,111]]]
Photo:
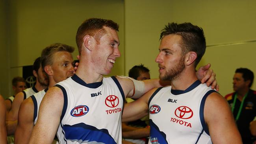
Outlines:
[[112,20],[105,20],[101,18],[89,18],[85,20],[78,28],[76,32],[76,45],[78,47],[78,52],[81,54],[83,37],[85,35],[93,36],[97,42],[106,33],[104,26],[109,27],[113,30],[119,31],[119,26]]

